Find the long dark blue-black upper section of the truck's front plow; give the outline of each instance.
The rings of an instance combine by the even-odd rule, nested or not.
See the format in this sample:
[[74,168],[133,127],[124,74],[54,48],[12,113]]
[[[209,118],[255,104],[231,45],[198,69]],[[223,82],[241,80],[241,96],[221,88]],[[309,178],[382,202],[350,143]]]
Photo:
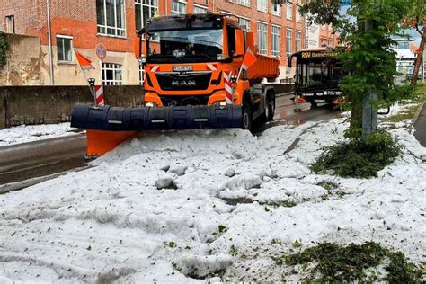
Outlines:
[[236,129],[242,123],[242,107],[235,105],[119,108],[78,103],[71,115],[71,127],[107,131]]

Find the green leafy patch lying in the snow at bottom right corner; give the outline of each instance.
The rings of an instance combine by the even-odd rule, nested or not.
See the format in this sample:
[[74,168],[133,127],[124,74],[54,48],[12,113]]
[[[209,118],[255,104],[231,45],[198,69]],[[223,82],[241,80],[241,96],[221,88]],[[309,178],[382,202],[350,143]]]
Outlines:
[[[321,243],[301,253],[273,259],[277,264],[308,267],[306,283],[420,283],[422,269],[408,262],[404,253],[394,252],[374,242],[365,244]],[[386,273],[377,268],[383,265]]]

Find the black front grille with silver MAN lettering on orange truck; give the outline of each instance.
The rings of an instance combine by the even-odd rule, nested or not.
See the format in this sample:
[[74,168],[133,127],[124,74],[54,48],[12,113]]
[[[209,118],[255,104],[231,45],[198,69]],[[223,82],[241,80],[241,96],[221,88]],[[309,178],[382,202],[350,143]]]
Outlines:
[[186,75],[155,74],[160,88],[164,91],[206,90],[211,73],[190,73]]

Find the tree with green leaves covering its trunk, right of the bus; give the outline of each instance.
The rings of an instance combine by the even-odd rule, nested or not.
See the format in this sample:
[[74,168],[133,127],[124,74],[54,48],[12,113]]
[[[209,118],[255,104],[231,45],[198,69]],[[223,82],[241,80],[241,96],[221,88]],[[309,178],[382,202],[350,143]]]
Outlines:
[[394,84],[397,72],[392,38],[401,35],[412,0],[352,0],[345,14],[340,13],[342,4],[341,0],[312,0],[303,5],[302,13],[309,14],[308,22],[333,24],[347,49],[341,59],[351,75],[340,86],[352,111],[349,137],[362,138],[366,102],[374,106],[377,115],[380,102],[390,105],[410,93]]

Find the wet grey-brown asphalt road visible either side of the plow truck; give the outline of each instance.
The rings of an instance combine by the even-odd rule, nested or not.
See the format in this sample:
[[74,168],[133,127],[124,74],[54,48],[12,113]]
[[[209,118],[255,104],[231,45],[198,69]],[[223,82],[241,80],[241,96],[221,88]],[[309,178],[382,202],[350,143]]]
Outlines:
[[[309,104],[306,104],[302,105],[301,109],[300,112],[295,111],[290,95],[277,97],[275,121],[268,126],[302,124],[306,121],[327,120],[339,115],[339,111],[331,111],[328,106],[311,110]],[[262,132],[263,129],[262,127],[254,129],[254,133]],[[86,165],[84,154],[84,134],[0,147],[0,185],[82,167]]]

